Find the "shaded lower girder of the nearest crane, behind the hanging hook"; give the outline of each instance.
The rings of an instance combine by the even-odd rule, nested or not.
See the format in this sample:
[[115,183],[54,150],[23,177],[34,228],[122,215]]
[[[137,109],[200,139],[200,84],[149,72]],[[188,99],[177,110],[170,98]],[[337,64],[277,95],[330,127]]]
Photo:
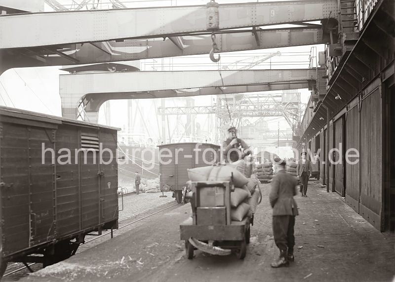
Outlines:
[[[254,33],[242,30],[217,34],[219,52],[233,52],[288,46],[324,44],[320,27],[262,30]],[[130,61],[150,58],[208,54],[212,41],[209,35],[133,39],[121,42],[89,42],[61,46],[30,47],[0,50],[0,73],[15,67],[65,66],[74,63],[92,64],[102,62]],[[58,56],[53,55],[54,52]],[[30,59],[30,61],[28,60]]]

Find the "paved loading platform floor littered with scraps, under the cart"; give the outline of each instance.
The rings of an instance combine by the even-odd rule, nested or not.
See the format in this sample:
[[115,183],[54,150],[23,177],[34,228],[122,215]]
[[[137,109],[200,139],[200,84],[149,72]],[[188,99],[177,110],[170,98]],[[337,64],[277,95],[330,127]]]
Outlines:
[[49,266],[23,281],[392,281],[395,238],[381,234],[335,193],[309,182],[307,198],[295,197],[295,262],[273,269],[278,255],[272,236],[270,184],[261,185],[251,243],[244,260],[195,251],[185,256],[179,224],[189,204],[164,211],[123,234]]

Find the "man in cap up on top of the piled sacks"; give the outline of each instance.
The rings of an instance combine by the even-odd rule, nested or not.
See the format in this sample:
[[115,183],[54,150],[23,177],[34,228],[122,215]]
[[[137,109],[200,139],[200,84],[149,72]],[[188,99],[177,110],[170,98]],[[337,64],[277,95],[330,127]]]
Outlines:
[[228,129],[228,138],[222,142],[223,160],[234,162],[244,159],[251,154],[250,147],[244,140],[237,138],[237,129],[232,126]]

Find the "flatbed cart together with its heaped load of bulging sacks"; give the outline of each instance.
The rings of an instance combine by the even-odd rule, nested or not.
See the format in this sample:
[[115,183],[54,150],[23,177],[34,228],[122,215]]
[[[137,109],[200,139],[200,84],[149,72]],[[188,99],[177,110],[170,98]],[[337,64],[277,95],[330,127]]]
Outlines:
[[[208,172],[208,170],[210,170]],[[250,181],[230,165],[216,165],[210,169],[188,171],[192,217],[180,225],[180,236],[185,240],[189,259],[194,250],[216,255],[236,251],[242,259],[250,238],[250,224],[258,205],[260,190],[256,181]],[[251,193],[252,191],[252,193]]]

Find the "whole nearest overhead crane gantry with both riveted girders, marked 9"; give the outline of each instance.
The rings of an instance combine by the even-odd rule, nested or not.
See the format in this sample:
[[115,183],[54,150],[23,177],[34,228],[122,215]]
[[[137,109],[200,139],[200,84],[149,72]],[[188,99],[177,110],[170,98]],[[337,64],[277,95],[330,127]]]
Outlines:
[[[17,67],[207,54],[212,42],[205,30],[205,9],[199,5],[0,15],[0,74]],[[336,0],[222,4],[217,47],[232,52],[326,43],[337,23],[337,9]],[[283,29],[279,24],[301,27]]]

